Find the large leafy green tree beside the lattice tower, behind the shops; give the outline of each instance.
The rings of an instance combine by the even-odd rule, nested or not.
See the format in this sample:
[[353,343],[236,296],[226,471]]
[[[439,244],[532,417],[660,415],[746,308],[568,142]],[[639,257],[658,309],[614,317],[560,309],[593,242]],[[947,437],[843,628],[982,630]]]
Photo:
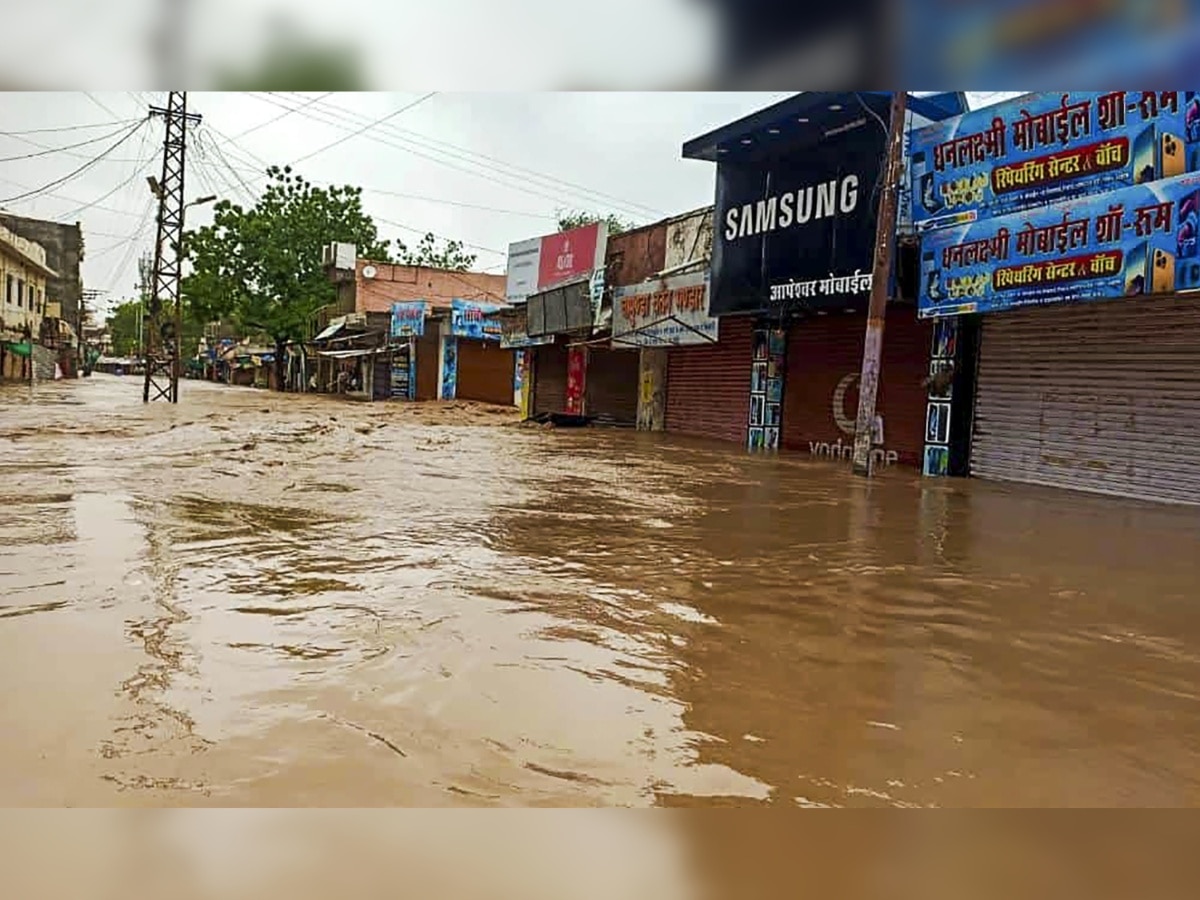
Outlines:
[[271,182],[253,206],[222,200],[212,224],[185,235],[192,271],[182,294],[193,322],[223,319],[269,336],[282,383],[284,344],[304,340],[313,314],[335,299],[322,247],[346,241],[368,259],[391,257],[362,210],[361,188],[314,187],[290,167],[266,174]]

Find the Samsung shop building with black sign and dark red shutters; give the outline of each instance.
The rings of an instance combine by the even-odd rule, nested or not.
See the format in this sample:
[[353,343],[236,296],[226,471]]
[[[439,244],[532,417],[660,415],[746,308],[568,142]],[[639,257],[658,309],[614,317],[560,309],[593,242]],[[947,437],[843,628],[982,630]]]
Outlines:
[[[715,344],[668,352],[668,431],[851,458],[890,100],[800,94],[684,144],[716,164],[708,313],[720,324]],[[908,127],[965,109],[961,95],[908,106]],[[874,455],[918,466],[931,328],[916,312],[914,245],[895,259]]]

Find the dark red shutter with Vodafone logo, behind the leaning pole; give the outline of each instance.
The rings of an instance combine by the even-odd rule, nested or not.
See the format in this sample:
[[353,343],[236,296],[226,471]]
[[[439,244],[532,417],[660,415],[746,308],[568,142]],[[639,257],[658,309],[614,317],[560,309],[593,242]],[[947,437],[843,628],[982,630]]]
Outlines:
[[[818,458],[850,460],[863,371],[864,314],[814,316],[791,326],[784,428],[780,443]],[[883,450],[919,466],[925,443],[929,346],[932,326],[908,306],[889,307],[876,398],[883,416]]]

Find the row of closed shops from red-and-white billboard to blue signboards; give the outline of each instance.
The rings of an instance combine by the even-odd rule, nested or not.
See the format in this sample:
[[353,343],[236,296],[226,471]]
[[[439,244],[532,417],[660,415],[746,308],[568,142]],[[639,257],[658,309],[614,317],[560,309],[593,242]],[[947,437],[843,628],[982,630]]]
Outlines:
[[[528,414],[848,464],[890,101],[794,96],[685,144],[714,206],[514,245]],[[905,130],[875,467],[1200,503],[1200,98],[908,97]]]

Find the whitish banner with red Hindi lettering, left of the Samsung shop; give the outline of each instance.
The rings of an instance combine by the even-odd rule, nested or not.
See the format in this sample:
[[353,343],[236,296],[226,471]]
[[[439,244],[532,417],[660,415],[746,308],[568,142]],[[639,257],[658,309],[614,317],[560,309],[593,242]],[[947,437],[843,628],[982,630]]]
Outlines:
[[708,272],[613,289],[613,347],[678,347],[716,341],[708,314]]

